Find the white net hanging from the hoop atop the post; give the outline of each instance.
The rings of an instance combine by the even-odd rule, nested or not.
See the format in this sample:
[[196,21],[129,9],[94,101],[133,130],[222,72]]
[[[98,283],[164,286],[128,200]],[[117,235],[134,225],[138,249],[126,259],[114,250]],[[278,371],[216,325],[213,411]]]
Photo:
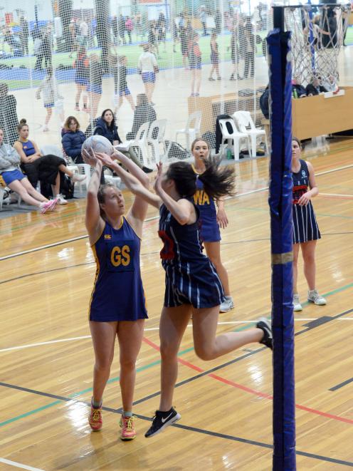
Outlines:
[[292,31],[292,68],[297,83],[307,86],[315,77],[334,91],[349,12],[350,6],[343,4],[285,9],[285,30]]

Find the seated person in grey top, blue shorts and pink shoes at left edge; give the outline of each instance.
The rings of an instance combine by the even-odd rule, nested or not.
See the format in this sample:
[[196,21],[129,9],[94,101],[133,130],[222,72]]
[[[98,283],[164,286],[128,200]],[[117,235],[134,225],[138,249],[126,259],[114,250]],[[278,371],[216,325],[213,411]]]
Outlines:
[[56,200],[47,200],[28,182],[28,178],[19,170],[21,162],[14,147],[4,143],[4,130],[0,128],[0,187],[9,187],[16,192],[27,205],[36,206],[41,213],[53,211]]

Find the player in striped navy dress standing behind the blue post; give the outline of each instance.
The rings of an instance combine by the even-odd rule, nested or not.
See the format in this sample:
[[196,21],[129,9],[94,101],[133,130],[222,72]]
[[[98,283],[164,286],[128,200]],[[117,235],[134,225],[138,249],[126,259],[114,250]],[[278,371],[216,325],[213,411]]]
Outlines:
[[315,287],[315,247],[317,239],[320,239],[320,231],[317,226],[311,198],[315,197],[319,190],[315,182],[315,172],[310,162],[300,159],[300,140],[292,141],[292,178],[293,178],[293,309],[301,311],[299,294],[297,292],[297,259],[299,249],[302,249],[304,261],[304,274],[309,291],[307,301],[317,306],[326,304],[325,298],[320,296]]

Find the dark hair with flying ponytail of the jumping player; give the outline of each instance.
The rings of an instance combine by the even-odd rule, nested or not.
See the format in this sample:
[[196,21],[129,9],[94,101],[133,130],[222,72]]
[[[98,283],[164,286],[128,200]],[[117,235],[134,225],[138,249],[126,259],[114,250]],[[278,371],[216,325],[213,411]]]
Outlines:
[[197,175],[191,164],[174,162],[169,165],[167,178],[174,180],[177,192],[181,197],[190,198],[196,192],[196,178],[204,184],[204,189],[211,198],[234,195],[234,168],[220,167],[221,159],[209,157],[205,160],[206,170]]

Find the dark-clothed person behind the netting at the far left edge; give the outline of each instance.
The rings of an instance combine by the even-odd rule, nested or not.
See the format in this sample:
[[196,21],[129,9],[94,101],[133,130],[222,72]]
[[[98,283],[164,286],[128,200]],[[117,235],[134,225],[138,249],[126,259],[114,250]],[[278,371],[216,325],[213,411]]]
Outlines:
[[17,139],[17,118],[16,98],[9,95],[7,83],[0,83],[0,128],[4,130],[4,143],[14,145]]

